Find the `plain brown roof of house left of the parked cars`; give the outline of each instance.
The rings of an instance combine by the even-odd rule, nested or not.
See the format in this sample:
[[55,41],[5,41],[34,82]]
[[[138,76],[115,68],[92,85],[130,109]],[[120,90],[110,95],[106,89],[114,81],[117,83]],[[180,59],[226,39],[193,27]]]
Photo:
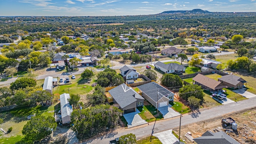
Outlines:
[[222,84],[219,81],[216,81],[214,79],[208,78],[207,76],[204,76],[202,74],[197,74],[192,80],[207,86],[208,88],[211,88],[213,90],[217,90],[220,88],[226,88],[226,86],[224,86],[224,84]]

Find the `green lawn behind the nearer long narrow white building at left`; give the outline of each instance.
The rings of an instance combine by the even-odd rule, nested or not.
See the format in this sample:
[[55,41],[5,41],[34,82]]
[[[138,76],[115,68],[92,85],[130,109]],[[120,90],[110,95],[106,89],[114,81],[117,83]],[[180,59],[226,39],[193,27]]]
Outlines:
[[[70,93],[70,94],[79,94],[84,95],[93,90],[91,86],[94,83],[94,79],[91,80],[90,84],[86,83],[87,80],[81,78],[81,75],[76,75],[76,79],[72,79],[72,84],[66,84],[61,86],[56,86],[53,88],[54,94],[63,94],[63,93]],[[84,88],[86,86],[86,88]]]

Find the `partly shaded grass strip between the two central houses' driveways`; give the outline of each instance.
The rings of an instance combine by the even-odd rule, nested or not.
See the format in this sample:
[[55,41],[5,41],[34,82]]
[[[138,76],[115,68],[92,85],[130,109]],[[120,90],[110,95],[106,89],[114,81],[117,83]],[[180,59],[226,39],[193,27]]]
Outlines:
[[144,105],[143,107],[138,107],[138,110],[140,111],[139,115],[143,120],[146,120],[146,122],[154,122],[155,120],[161,120],[163,119],[163,115],[158,112],[154,106],[152,105]]

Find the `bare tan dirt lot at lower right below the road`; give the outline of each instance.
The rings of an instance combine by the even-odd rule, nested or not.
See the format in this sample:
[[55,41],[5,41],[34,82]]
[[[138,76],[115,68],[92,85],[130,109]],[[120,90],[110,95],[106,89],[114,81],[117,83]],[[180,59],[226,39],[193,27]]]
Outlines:
[[[222,118],[231,117],[238,124],[237,132],[225,127],[221,124]],[[202,136],[207,130],[214,132],[214,129],[218,128],[223,132],[226,132],[229,136],[234,138],[241,144],[256,144],[256,108],[245,110],[241,112],[235,112],[232,114],[227,114],[218,118],[213,118],[211,120],[205,120],[202,122],[197,122],[194,124],[186,125],[181,127],[181,138],[186,140],[186,144],[192,144],[187,138],[185,138],[186,132],[191,132],[194,138]],[[173,129],[176,134],[179,133],[179,129]],[[231,132],[230,132],[231,131]]]

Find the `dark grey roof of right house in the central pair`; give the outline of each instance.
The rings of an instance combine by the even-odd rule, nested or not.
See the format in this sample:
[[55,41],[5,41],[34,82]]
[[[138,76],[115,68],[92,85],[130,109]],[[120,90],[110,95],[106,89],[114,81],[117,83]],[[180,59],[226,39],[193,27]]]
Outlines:
[[158,100],[163,96],[167,96],[169,94],[172,94],[174,96],[174,93],[170,92],[169,90],[162,87],[156,82],[143,84],[143,85],[137,86],[137,88],[139,88],[142,92],[144,92],[147,96],[149,96],[155,102],[157,102],[157,90],[159,90]]

